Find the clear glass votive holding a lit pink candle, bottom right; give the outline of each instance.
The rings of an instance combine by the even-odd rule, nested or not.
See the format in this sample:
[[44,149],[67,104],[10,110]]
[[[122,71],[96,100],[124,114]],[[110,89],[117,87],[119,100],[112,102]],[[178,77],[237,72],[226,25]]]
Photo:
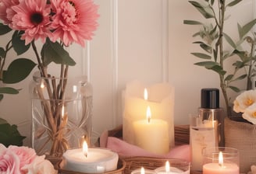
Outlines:
[[203,174],[239,174],[239,152],[236,148],[204,148]]

